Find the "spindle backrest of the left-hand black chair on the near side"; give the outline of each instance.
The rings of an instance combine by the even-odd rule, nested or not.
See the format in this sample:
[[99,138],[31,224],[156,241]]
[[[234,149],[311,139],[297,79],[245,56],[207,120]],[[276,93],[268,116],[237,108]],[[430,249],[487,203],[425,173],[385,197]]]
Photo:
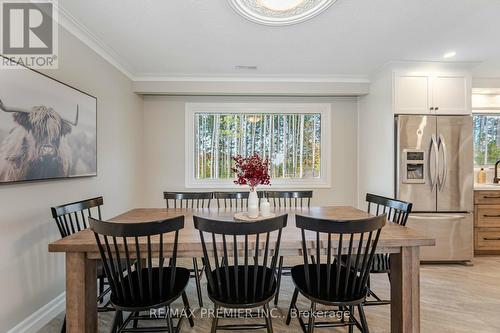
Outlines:
[[[154,304],[167,292],[172,292],[179,230],[184,228],[184,216],[140,223],[105,222],[89,218],[89,223],[111,292],[118,304]],[[168,233],[173,233],[173,237]],[[153,237],[156,239],[154,245]],[[163,244],[166,237],[172,238],[168,248]],[[153,266],[153,259],[157,266]],[[132,265],[135,265],[134,271]]]

